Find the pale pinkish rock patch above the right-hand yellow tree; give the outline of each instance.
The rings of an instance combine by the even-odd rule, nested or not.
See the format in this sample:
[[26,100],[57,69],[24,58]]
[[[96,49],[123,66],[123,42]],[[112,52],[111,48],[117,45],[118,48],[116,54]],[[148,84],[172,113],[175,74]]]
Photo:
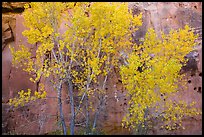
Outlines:
[[130,2],[129,7],[133,8],[133,14],[143,13],[143,25],[135,33],[135,39],[144,37],[150,27],[159,34],[188,24],[200,34],[201,40],[202,2]]

